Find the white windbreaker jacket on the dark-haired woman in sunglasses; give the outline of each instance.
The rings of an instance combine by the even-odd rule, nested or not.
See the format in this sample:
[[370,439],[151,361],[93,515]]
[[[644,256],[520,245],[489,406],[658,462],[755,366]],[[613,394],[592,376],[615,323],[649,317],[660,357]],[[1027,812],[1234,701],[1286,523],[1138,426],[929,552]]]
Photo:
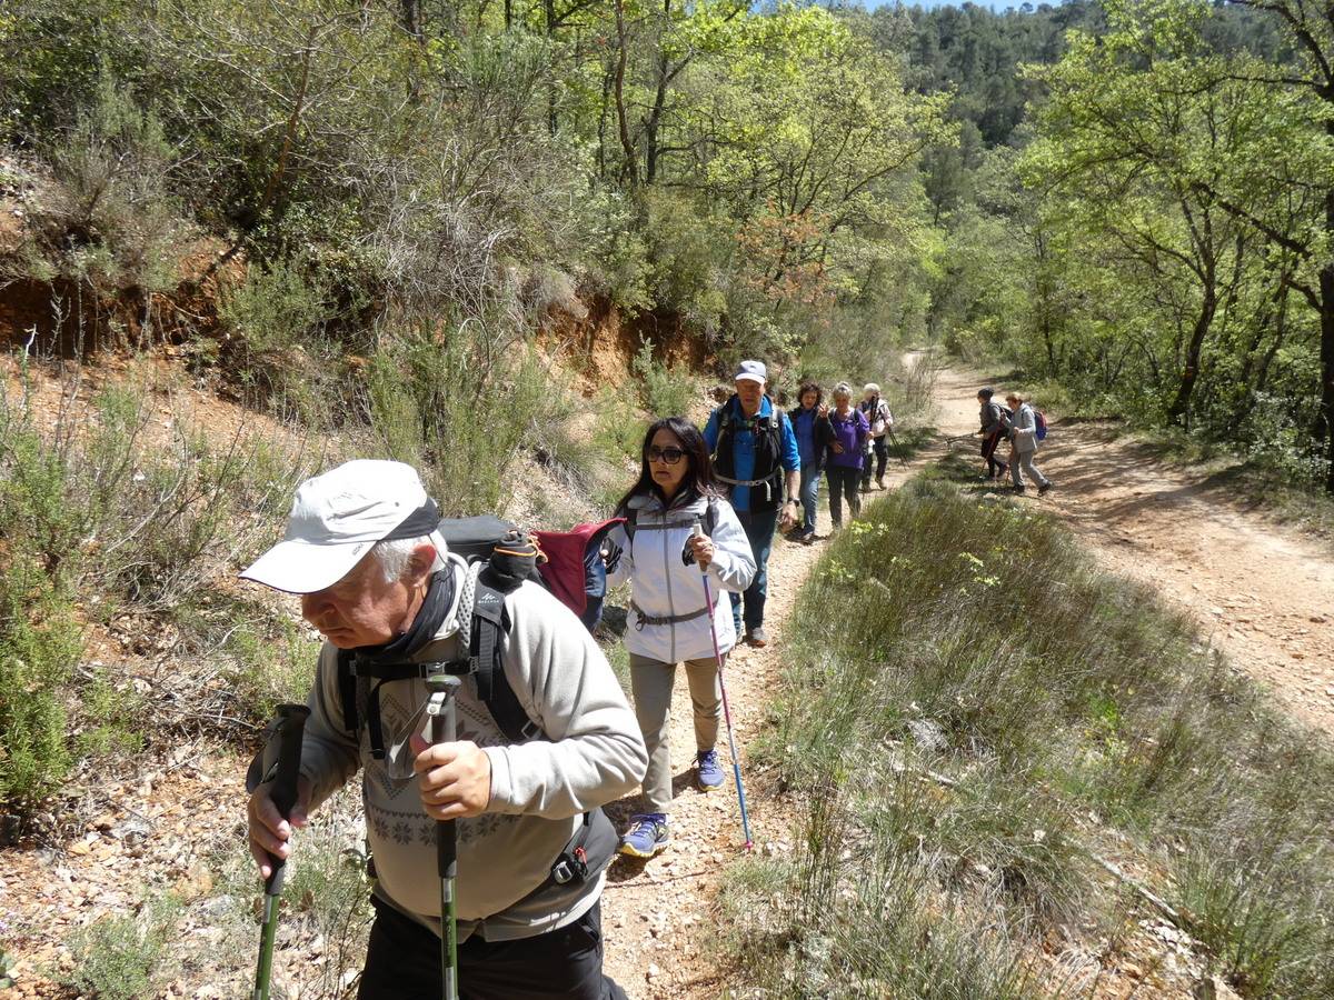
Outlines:
[[614,528],[607,584],[630,580],[631,608],[626,628],[626,648],[639,656],[662,663],[683,663],[712,657],[708,615],[686,621],[652,624],[644,619],[680,619],[704,608],[704,585],[699,567],[682,559],[686,541],[696,521],[707,524],[707,504],[714,504],[714,560],[708,564],[708,584],[715,603],[714,628],[718,648],[730,651],[736,644],[731,601],[724,591],[740,593],[755,577],[755,556],[732,505],[723,497],[706,501],[696,497],[682,503],[678,497],[663,511],[656,495],[640,493],[630,501],[635,512],[635,539],[631,544],[624,525]]

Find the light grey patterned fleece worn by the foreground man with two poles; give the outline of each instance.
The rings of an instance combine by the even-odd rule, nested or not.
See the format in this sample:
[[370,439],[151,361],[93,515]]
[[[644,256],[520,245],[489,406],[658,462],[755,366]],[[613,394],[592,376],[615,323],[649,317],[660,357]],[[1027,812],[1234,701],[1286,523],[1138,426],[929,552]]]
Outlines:
[[[462,585],[464,571],[451,564]],[[472,933],[488,941],[532,937],[591,909],[602,877],[527,897],[546,881],[582,815],[634,791],[648,765],[635,715],[579,619],[531,583],[506,597],[506,611],[511,621],[500,648],[506,677],[542,735],[510,745],[478,699],[475,681],[464,680],[459,739],[472,740],[491,759],[491,804],[483,815],[458,821],[459,940]],[[458,645],[451,619],[415,659],[452,660]],[[386,745],[406,739],[410,727],[422,729],[424,719],[414,715],[426,700],[422,680],[380,688]],[[435,820],[422,807],[415,777],[396,780],[387,761],[371,757],[364,723],[358,741],[348,737],[338,649],[328,643],[320,651],[309,707],[301,775],[312,785],[311,808],[360,769],[376,895],[439,933]],[[299,864],[299,849],[295,857]]]

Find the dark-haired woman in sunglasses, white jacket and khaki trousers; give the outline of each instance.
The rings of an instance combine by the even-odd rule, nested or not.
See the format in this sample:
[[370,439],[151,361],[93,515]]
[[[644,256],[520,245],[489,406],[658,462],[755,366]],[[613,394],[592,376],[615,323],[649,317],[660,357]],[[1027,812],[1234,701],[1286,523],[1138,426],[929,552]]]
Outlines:
[[[626,649],[635,715],[648,748],[646,811],[631,820],[620,852],[652,857],[670,840],[671,752],[667,720],[676,664],[686,664],[695,709],[695,783],[703,792],[723,784],[714,749],[722,717],[722,692],[710,628],[719,651],[736,645],[731,609],[722,604],[708,619],[699,573],[716,587],[744,591],[755,576],[750,540],[714,477],[708,448],[684,417],[666,417],[648,428],[639,479],[616,505],[626,524],[607,536],[608,584],[630,581]],[[695,524],[703,535],[692,537]]]

